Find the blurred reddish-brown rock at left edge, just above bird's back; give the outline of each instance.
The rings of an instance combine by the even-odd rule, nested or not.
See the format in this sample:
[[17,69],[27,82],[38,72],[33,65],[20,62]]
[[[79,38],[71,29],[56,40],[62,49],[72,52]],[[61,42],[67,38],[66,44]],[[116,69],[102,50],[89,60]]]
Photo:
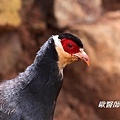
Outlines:
[[0,35],[0,77],[7,79],[16,75],[16,65],[21,57],[21,51],[20,38],[17,33]]

